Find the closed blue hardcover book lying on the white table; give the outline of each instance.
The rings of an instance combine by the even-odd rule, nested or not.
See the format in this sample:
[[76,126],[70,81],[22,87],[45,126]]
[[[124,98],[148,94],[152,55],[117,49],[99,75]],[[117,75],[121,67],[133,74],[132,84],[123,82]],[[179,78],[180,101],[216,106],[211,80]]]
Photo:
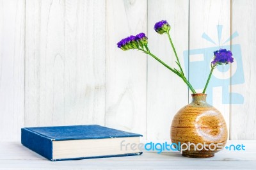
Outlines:
[[21,129],[21,143],[52,161],[141,155],[141,136],[100,125]]

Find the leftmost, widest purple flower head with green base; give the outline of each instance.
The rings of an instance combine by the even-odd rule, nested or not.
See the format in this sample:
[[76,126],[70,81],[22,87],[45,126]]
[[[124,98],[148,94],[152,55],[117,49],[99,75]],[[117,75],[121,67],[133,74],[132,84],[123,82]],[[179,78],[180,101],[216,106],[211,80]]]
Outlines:
[[140,47],[143,49],[143,47],[147,48],[147,43],[148,38],[145,33],[140,33],[136,36],[131,35],[120,40],[120,42],[117,43],[117,47],[122,50],[139,49]]

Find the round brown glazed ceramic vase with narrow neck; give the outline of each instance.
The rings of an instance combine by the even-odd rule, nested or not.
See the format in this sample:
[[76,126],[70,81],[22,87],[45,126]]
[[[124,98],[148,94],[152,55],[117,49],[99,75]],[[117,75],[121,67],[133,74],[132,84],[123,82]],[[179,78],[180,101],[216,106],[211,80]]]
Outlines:
[[[196,147],[192,144],[190,150],[183,150],[182,156],[184,157],[214,157],[214,153],[220,150],[217,144],[224,148],[227,143],[226,122],[220,111],[207,104],[205,101],[206,94],[192,94],[192,98],[191,104],[180,109],[173,118],[171,125],[172,143],[198,144],[199,150],[195,150]],[[205,144],[205,146],[202,147],[200,144]],[[210,148],[207,146],[209,144]]]

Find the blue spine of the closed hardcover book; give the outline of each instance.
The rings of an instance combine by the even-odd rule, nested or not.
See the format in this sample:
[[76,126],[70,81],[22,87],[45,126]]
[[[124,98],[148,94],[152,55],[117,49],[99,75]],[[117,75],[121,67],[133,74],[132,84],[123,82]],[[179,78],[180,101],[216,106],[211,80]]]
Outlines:
[[33,132],[28,128],[22,128],[21,143],[30,150],[33,150],[43,157],[52,160],[52,139]]

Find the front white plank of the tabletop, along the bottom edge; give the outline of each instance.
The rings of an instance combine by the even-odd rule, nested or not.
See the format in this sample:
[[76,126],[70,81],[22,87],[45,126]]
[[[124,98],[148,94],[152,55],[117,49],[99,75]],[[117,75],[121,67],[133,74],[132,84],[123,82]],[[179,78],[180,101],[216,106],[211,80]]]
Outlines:
[[[140,156],[138,156],[140,157]],[[0,169],[255,169],[255,161],[195,162],[162,160],[79,160],[49,162],[48,160],[0,160]]]

